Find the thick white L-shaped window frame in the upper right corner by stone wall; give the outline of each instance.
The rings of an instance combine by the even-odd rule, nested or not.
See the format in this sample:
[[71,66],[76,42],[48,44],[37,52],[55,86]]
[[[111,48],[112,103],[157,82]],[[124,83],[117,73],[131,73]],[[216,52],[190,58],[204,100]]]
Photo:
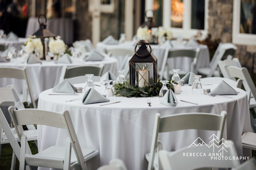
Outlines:
[[256,34],[240,33],[241,0],[233,1],[232,43],[256,45]]

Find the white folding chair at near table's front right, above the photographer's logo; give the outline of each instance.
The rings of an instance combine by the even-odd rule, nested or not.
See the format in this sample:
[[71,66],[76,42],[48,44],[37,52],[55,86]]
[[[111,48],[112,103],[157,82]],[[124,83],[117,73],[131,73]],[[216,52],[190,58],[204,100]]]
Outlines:
[[[209,131],[217,131],[217,142],[222,139],[224,125],[226,121],[226,111],[222,111],[221,115],[210,113],[180,113],[166,117],[160,117],[156,113],[154,130],[152,135],[152,143],[150,153],[146,153],[148,160],[148,170],[161,170],[158,164],[158,151],[163,149],[162,143],[158,140],[158,133],[172,132],[184,129],[202,129]],[[157,151],[157,153],[156,153]]]

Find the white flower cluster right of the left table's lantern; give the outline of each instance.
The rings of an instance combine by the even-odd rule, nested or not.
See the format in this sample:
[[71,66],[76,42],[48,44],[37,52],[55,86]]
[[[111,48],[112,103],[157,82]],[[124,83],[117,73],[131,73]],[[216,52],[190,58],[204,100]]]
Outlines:
[[49,39],[49,51],[53,54],[58,55],[60,52],[65,52],[66,45],[62,39],[60,39],[60,36],[57,36],[56,39],[53,37],[50,37]]

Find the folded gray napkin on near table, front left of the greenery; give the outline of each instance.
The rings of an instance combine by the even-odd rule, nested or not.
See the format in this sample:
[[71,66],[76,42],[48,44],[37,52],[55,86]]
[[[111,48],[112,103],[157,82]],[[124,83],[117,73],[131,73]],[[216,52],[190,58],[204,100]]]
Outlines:
[[83,104],[101,103],[109,101],[109,99],[102,96],[102,94],[97,92],[94,88],[90,88],[89,90],[87,90],[82,98]]

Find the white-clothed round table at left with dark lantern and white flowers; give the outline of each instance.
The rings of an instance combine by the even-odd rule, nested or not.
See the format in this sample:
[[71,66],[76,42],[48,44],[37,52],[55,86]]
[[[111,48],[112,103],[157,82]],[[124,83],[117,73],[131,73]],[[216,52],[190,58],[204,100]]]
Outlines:
[[[99,66],[100,64],[104,64],[102,72],[102,74],[104,74],[109,70],[113,73],[117,72],[117,63],[118,61],[115,58],[105,57],[102,61],[86,62],[81,61],[80,59],[72,59],[72,63],[70,64],[56,63],[55,61],[42,61],[42,64],[27,64],[24,59],[18,57],[16,59],[12,59],[11,62],[0,63],[0,67],[27,67],[33,94],[34,96],[38,96],[42,91],[53,88],[59,83],[63,66]],[[9,84],[13,84],[18,93],[21,93],[26,82],[24,80],[12,78],[0,78],[0,87],[6,87]],[[22,84],[22,86],[20,84]]]

